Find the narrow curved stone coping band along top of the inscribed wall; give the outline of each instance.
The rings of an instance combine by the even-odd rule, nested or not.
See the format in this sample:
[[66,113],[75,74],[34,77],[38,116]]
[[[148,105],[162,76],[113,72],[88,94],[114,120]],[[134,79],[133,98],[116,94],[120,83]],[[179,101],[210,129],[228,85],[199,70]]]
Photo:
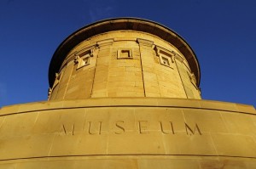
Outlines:
[[44,101],[29,104],[15,104],[4,106],[0,109],[1,115],[12,115],[17,113],[27,113],[36,110],[57,110],[85,108],[85,107],[108,107],[108,106],[143,106],[143,107],[180,107],[206,110],[224,110],[242,114],[256,115],[256,110],[252,105],[235,104],[215,100],[203,99],[173,99],[173,98],[96,98],[78,99],[63,101]]

